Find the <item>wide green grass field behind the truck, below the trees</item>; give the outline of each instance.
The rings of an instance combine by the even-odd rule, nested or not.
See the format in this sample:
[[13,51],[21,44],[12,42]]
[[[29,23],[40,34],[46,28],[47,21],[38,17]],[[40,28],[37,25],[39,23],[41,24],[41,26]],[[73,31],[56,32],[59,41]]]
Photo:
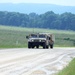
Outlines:
[[56,47],[75,47],[75,31],[21,28],[0,25],[0,48],[27,47],[26,35],[30,33],[52,33]]

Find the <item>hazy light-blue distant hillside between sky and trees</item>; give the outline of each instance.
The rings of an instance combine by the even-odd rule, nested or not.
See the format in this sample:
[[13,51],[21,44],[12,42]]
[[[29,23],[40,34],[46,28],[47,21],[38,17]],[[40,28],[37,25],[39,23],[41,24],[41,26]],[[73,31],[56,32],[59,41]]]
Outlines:
[[33,4],[33,3],[0,3],[0,11],[20,12],[20,13],[32,13],[43,14],[47,11],[53,11],[55,13],[62,14],[64,12],[71,12],[75,14],[75,6],[60,6],[54,4]]

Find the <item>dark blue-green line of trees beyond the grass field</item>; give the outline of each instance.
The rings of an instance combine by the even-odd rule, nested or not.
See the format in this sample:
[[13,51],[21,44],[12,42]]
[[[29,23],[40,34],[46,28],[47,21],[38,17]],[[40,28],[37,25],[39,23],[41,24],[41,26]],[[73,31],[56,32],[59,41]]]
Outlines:
[[38,15],[0,11],[0,25],[75,31],[75,14],[70,12],[55,14],[48,11]]

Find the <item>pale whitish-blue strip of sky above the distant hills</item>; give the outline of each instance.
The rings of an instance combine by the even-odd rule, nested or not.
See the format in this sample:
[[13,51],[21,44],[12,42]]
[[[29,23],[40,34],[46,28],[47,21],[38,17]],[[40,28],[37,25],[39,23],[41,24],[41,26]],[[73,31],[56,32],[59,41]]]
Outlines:
[[75,0],[0,0],[0,3],[48,3],[65,6],[75,6]]

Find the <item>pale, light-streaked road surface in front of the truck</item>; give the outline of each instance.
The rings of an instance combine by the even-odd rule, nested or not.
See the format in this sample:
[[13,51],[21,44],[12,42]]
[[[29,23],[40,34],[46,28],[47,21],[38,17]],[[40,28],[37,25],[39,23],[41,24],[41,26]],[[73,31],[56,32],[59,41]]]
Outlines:
[[75,58],[75,48],[0,49],[0,75],[54,75]]

